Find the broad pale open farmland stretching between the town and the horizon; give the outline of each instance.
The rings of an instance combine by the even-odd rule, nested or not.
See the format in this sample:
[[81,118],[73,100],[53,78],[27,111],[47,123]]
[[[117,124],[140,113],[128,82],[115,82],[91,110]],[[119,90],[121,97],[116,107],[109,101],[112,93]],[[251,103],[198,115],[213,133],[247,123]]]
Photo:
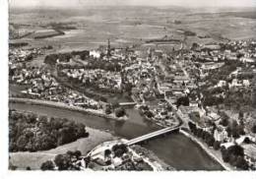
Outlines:
[[[204,12],[208,11],[171,7],[97,7],[69,11],[11,9],[10,23],[21,30],[34,31],[48,30],[54,23],[72,24],[76,30],[64,30],[65,34],[61,36],[35,40],[26,36],[20,39],[30,42],[32,46],[51,44],[62,52],[96,48],[105,45],[108,38],[112,46],[143,44],[146,40],[165,35],[182,39],[182,30],[196,33],[195,36],[187,36],[188,46],[194,41],[208,43],[223,41],[225,38],[255,37],[256,19],[253,9]],[[175,21],[180,21],[180,24]],[[205,35],[208,37],[199,37]]]

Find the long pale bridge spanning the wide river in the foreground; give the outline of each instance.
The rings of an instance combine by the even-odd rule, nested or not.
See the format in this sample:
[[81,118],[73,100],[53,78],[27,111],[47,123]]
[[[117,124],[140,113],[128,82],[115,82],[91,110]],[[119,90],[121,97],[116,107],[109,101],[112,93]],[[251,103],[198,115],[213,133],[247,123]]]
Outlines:
[[125,145],[127,145],[127,146],[136,145],[136,144],[148,141],[150,139],[159,137],[161,135],[165,135],[165,134],[168,134],[168,133],[171,133],[171,132],[179,131],[179,128],[180,128],[180,125],[178,125],[176,127],[167,127],[167,128],[164,128],[164,129],[160,129],[159,131],[156,131],[156,132],[153,132],[153,133],[150,133],[150,134],[132,139],[130,141],[127,141],[125,143]]

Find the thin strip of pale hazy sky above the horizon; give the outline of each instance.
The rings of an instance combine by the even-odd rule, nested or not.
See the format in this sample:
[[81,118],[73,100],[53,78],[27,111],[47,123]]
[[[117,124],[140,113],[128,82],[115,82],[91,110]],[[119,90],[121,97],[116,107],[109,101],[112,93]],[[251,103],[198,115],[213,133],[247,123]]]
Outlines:
[[256,7],[256,0],[9,0],[11,7],[190,6]]

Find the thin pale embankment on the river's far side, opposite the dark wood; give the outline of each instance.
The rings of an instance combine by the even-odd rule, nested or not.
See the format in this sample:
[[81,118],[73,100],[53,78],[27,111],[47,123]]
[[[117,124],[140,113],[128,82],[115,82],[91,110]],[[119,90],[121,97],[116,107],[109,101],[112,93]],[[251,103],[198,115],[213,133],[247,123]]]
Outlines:
[[67,104],[64,104],[62,102],[53,102],[53,101],[45,101],[45,100],[39,100],[39,99],[17,98],[17,97],[10,97],[9,102],[14,102],[14,103],[15,102],[20,102],[20,103],[28,103],[28,104],[32,104],[32,105],[44,105],[44,106],[50,106],[50,107],[64,108],[64,109],[68,109],[68,110],[71,110],[71,111],[84,112],[84,113],[87,113],[87,114],[96,115],[96,116],[99,116],[99,117],[112,119],[112,120],[116,120],[116,121],[126,121],[126,120],[128,120],[127,116],[118,118],[118,117],[115,117],[114,114],[109,114],[108,115],[108,114],[105,114],[101,110],[84,109],[84,108],[78,107],[78,106],[67,105]]

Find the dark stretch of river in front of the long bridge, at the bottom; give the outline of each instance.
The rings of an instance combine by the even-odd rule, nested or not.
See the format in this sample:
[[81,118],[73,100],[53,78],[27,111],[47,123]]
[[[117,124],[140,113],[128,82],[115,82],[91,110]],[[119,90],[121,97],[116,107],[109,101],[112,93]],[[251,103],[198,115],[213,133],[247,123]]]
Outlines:
[[185,136],[172,133],[143,145],[177,170],[223,170],[203,149]]

